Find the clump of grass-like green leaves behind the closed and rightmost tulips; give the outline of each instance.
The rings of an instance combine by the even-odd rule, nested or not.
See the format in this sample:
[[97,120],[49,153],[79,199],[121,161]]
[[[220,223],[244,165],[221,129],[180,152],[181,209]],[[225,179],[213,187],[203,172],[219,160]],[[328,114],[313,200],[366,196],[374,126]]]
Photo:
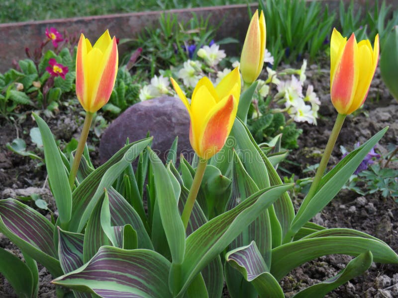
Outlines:
[[[265,2],[265,4],[264,4]],[[281,61],[292,63],[305,54],[314,59],[328,45],[335,14],[318,1],[259,1],[267,22],[267,49],[274,55],[274,68]]]

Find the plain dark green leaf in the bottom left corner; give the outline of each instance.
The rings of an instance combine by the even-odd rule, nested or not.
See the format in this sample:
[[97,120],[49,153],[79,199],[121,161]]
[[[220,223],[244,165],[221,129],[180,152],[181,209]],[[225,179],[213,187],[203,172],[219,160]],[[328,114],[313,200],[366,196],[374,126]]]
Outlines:
[[10,283],[18,297],[33,296],[34,281],[29,267],[14,254],[0,247],[0,273]]

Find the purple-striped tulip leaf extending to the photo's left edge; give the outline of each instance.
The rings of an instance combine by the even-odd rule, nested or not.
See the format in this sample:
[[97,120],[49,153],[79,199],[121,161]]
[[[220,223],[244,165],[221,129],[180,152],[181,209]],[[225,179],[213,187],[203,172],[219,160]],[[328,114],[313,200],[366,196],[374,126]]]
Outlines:
[[0,200],[0,231],[53,276],[62,275],[53,242],[54,225],[14,199]]

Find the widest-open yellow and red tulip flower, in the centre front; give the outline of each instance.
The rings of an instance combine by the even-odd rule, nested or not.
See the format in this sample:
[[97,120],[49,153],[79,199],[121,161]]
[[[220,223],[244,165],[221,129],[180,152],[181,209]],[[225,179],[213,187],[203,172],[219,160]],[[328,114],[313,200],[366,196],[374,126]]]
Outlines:
[[200,158],[209,159],[222,149],[231,132],[240,96],[239,70],[235,68],[215,88],[207,77],[201,78],[191,104],[173,78],[171,82],[191,117],[191,146]]

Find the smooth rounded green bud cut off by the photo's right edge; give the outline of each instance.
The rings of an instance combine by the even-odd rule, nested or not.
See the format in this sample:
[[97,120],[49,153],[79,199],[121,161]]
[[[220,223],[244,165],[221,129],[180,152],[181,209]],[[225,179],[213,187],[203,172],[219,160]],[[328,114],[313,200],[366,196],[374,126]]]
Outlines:
[[393,28],[383,43],[380,71],[390,93],[398,100],[398,26]]

